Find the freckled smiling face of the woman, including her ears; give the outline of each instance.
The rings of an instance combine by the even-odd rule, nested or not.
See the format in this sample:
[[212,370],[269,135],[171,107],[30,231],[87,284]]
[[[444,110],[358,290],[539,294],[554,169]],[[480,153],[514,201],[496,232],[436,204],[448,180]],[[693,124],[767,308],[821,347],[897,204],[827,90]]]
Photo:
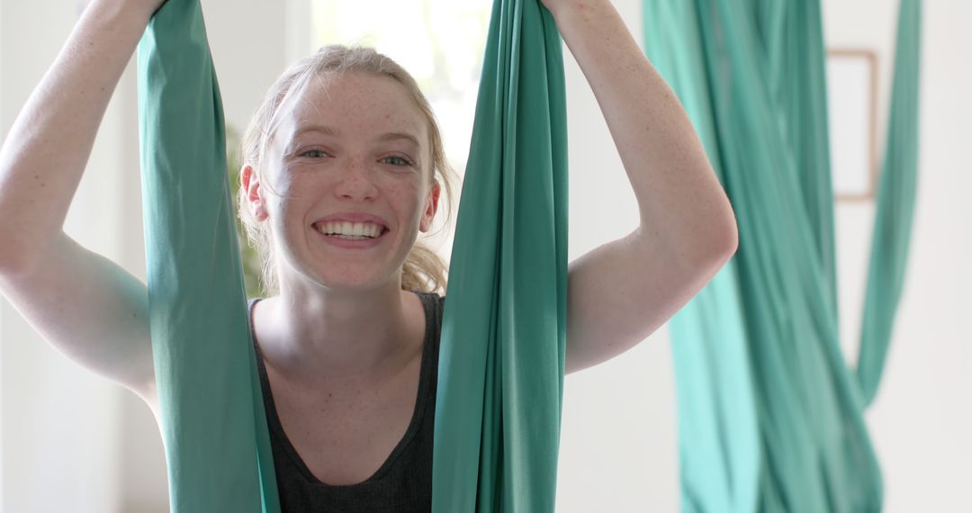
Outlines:
[[438,198],[427,120],[393,79],[327,80],[312,80],[295,98],[267,152],[265,179],[279,195],[261,188],[261,196],[281,285],[398,287]]

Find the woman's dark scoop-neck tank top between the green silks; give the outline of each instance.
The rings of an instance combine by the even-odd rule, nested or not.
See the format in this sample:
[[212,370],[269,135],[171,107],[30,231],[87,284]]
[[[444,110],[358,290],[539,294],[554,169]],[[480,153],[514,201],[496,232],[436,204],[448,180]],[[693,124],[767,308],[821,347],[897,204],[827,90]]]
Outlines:
[[[438,339],[444,298],[418,292],[425,306],[426,336],[419,371],[418,396],[411,423],[388,460],[369,478],[355,485],[333,486],[319,481],[300,459],[277,417],[273,393],[266,377],[260,346],[254,340],[260,369],[260,386],[270,430],[270,446],[277,473],[280,507],[296,512],[428,512],[432,510],[432,448],[435,424],[435,390],[438,375]],[[251,331],[253,306],[249,305]]]

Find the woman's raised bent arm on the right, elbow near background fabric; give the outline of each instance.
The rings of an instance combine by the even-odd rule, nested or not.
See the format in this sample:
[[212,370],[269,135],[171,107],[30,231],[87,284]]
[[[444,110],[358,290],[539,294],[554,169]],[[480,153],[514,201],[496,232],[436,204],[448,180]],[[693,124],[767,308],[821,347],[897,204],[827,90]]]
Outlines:
[[542,2],[594,90],[641,213],[629,236],[571,264],[571,372],[664,324],[733,255],[737,229],[688,116],[610,2]]

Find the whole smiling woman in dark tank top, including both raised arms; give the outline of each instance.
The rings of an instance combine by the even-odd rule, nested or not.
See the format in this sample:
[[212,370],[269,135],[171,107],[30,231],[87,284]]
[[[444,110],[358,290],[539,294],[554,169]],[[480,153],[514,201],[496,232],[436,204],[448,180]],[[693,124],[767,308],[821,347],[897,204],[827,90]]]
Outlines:
[[[0,151],[4,294],[64,353],[153,409],[145,285],[62,224],[161,3],[92,0]],[[714,276],[737,235],[691,124],[609,1],[543,3],[640,207],[635,231],[571,265],[571,372],[641,342]],[[417,240],[452,190],[428,101],[391,59],[327,47],[271,87],[243,154],[239,213],[268,285],[250,317],[282,507],[427,511],[445,267]]]

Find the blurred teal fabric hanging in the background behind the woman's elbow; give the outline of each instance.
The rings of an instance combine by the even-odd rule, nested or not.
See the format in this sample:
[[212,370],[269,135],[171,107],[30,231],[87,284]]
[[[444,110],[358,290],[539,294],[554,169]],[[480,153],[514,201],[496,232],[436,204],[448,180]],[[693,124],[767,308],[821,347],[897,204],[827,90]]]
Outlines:
[[904,279],[920,2],[901,4],[856,375],[841,353],[818,0],[645,0],[645,49],[726,188],[740,249],[673,319],[685,511],[880,511],[864,410]]

